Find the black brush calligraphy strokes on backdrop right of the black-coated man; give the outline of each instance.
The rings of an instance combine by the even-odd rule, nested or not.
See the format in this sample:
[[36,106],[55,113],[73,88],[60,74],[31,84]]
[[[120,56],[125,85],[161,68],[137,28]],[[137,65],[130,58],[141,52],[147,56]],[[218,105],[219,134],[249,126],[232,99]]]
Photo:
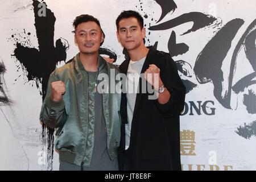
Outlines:
[[[156,22],[160,22],[171,11],[175,11],[176,5],[175,2],[168,1],[156,1],[162,8],[162,14],[159,20]],[[169,3],[169,4],[168,4]],[[170,5],[170,6],[168,6]],[[150,26],[149,30],[167,30],[180,24],[193,22],[193,26],[190,30],[185,32],[185,35],[189,32],[194,32],[199,30],[200,28],[206,26],[212,26],[214,22],[216,26],[221,24],[217,22],[217,19],[210,15],[205,15],[199,12],[191,12],[187,14],[183,14],[178,16],[177,18],[168,20],[164,23],[160,23],[155,26]],[[228,88],[222,88],[222,82],[224,81],[223,72],[221,70],[222,63],[231,48],[231,43],[236,36],[238,30],[243,25],[244,20],[242,19],[233,19],[230,20],[224,27],[221,28],[220,31],[210,40],[203,49],[199,53],[196,59],[194,71],[200,84],[204,84],[206,82],[212,81],[214,86],[214,96],[220,102],[220,104],[228,109],[231,109],[230,100],[231,100],[231,92],[238,94],[240,92],[245,92],[245,88],[248,88],[251,85],[256,84],[256,19],[247,27],[247,30],[242,35],[240,41],[238,42],[236,48],[234,49],[232,60],[230,61],[230,72],[228,77]],[[232,86],[234,73],[236,72],[236,62],[238,53],[241,49],[245,49],[245,54],[247,60],[251,64],[254,72],[249,75],[241,78]],[[171,56],[182,55],[187,52],[189,47],[185,43],[176,43],[176,35],[175,32],[172,31],[169,42],[168,42],[168,51]],[[175,61],[178,70],[183,73],[184,76],[187,76],[189,71],[189,67],[187,69],[183,68],[182,64],[183,60]],[[187,93],[190,92],[197,85],[193,84],[189,80],[183,80]],[[248,94],[243,94],[243,104],[246,106],[247,112],[250,114],[256,114],[256,95],[253,90],[248,91]],[[224,93],[224,95],[222,94]],[[236,131],[240,136],[245,137],[246,139],[250,138],[252,135],[255,136],[256,132],[256,122],[251,123],[250,125],[245,125],[244,127],[240,126],[238,131]]]

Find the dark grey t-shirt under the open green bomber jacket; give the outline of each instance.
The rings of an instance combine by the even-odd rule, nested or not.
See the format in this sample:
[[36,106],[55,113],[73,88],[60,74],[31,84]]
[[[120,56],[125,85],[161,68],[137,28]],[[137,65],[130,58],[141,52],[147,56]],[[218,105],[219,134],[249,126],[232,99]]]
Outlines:
[[[94,92],[94,99],[89,98],[90,102],[94,102],[94,110],[90,111],[94,113],[94,119],[89,118],[89,122],[93,122],[94,124],[92,125],[94,126],[94,143],[90,167],[84,166],[84,171],[116,171],[118,170],[118,160],[117,158],[113,160],[110,159],[107,147],[106,122],[103,114],[102,94],[94,89],[97,72],[88,72],[88,75],[89,87],[92,88],[89,92]],[[81,167],[60,161],[60,170],[81,170]]]

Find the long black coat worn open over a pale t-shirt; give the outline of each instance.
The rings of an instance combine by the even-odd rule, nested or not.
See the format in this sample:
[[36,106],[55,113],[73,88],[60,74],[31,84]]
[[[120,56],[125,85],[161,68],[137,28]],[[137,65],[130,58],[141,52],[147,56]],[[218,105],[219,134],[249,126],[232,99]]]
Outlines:
[[[120,65],[127,73],[129,59]],[[142,73],[150,64],[160,69],[160,78],[171,93],[170,101],[161,105],[148,100],[148,93],[137,93],[130,136],[130,170],[181,170],[180,164],[180,113],[184,107],[185,86],[177,67],[168,53],[150,47],[142,67]],[[141,85],[141,80],[140,80]],[[141,86],[140,86],[141,88]],[[125,151],[125,123],[127,123],[127,99],[121,99],[121,143],[119,168],[123,169]]]

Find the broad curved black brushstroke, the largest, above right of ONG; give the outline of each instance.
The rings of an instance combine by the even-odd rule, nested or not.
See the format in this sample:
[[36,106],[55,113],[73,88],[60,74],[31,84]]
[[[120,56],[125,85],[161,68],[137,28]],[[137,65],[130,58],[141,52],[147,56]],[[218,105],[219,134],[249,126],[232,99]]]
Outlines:
[[233,19],[228,22],[217,34],[207,43],[203,51],[197,56],[194,71],[197,80],[200,84],[205,84],[209,81],[213,82],[213,94],[222,106],[231,109],[228,93],[221,95],[222,81],[224,81],[223,72],[221,70],[222,62],[225,59],[234,36],[242,26],[242,19]]

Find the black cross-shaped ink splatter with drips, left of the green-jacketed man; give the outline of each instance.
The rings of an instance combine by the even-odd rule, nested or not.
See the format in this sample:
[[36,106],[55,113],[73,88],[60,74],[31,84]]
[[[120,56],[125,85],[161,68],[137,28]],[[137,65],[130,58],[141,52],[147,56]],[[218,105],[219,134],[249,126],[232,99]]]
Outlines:
[[[39,88],[39,84],[42,84],[42,99],[46,96],[47,82],[49,75],[56,69],[56,64],[59,61],[65,61],[67,54],[66,51],[69,48],[67,40],[60,38],[56,40],[56,46],[54,46],[54,25],[55,15],[51,10],[46,8],[46,16],[39,16],[39,1],[33,1],[35,16],[35,29],[36,36],[38,38],[39,49],[22,46],[20,43],[16,43],[14,50],[14,56],[22,65],[22,69],[27,73],[28,81],[35,80],[36,86]],[[46,3],[43,2],[45,5]],[[46,5],[47,7],[47,5]],[[28,33],[30,35],[30,33]],[[48,169],[52,169],[53,159],[53,132],[54,130],[47,129],[43,125],[42,137],[43,146],[47,147],[47,162]],[[47,138],[46,138],[47,136]]]

